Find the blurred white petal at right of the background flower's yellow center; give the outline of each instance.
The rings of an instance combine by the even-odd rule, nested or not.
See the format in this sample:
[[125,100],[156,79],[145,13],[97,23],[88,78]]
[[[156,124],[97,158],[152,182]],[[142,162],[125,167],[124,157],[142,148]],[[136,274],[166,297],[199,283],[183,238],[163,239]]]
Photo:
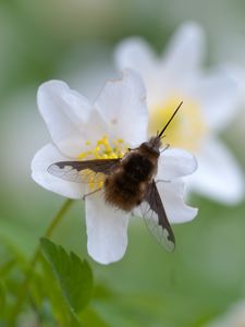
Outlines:
[[238,86],[224,71],[213,71],[201,76],[192,93],[201,106],[206,123],[216,131],[224,129],[240,108]]

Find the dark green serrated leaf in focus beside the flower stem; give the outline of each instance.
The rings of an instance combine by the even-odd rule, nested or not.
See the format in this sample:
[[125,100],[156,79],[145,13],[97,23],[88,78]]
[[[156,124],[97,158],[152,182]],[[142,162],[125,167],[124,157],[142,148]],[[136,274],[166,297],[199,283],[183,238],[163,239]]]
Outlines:
[[60,245],[41,239],[45,258],[49,262],[58,279],[63,296],[70,307],[79,313],[90,300],[93,291],[91,269],[74,253],[68,254]]

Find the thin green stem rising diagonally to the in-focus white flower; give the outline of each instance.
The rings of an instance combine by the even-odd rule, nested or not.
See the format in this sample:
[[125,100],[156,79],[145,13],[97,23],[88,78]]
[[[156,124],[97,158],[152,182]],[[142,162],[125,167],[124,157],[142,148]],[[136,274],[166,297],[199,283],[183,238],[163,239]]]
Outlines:
[[[70,198],[64,202],[64,204],[62,205],[62,207],[60,208],[60,210],[58,211],[58,214],[56,215],[56,217],[52,219],[51,223],[47,228],[47,230],[44,234],[45,238],[50,238],[52,235],[54,229],[57,228],[59,222],[62,220],[64,214],[69,210],[72,203],[73,203],[73,201],[70,199]],[[16,298],[16,302],[13,306],[12,312],[11,312],[10,325],[9,326],[15,326],[15,320],[16,320],[19,312],[22,310],[22,305],[23,305],[23,302],[24,302],[26,293],[27,293],[26,291],[27,291],[27,288],[28,288],[28,283],[32,279],[35,265],[36,265],[36,263],[38,261],[38,257],[40,255],[40,251],[41,251],[41,249],[40,249],[40,244],[39,244],[37,246],[35,253],[34,253],[34,255],[33,255],[33,258],[29,262],[29,266],[28,266],[28,269],[26,271],[25,279],[24,279],[23,283],[20,287],[17,298]]]

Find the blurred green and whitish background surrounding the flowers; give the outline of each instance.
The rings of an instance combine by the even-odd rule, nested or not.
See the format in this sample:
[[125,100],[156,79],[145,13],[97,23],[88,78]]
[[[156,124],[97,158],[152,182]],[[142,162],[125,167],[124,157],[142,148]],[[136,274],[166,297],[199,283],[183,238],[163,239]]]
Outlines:
[[[139,35],[160,51],[189,20],[206,31],[205,65],[233,62],[245,70],[241,0],[0,1],[0,253],[8,243],[30,257],[63,203],[30,179],[30,160],[49,140],[36,106],[37,87],[61,78],[93,99],[115,74],[117,43]],[[245,107],[221,137],[245,172]],[[90,308],[105,326],[209,326],[244,301],[245,202],[229,207],[194,195],[191,203],[199,215],[174,227],[173,254],[162,251],[134,218],[126,255],[106,267],[87,256],[83,204],[73,205],[53,240],[93,267],[103,292]],[[33,326],[28,319],[25,324]]]

